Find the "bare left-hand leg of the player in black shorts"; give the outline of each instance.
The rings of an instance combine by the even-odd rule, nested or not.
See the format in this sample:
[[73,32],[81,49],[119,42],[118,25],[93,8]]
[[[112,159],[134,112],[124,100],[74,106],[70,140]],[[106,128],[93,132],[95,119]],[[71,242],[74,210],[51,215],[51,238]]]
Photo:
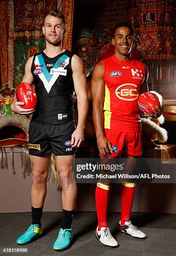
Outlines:
[[45,201],[50,157],[51,153],[44,156],[30,156],[32,163],[31,201],[35,208],[42,207]]

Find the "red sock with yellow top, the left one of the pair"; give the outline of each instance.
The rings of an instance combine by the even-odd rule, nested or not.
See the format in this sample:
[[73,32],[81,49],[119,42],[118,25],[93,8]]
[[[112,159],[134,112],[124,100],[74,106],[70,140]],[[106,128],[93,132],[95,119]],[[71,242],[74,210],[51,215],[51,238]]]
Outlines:
[[108,194],[111,186],[104,185],[100,182],[97,183],[95,190],[95,200],[97,207],[98,230],[102,227],[107,228],[107,206]]

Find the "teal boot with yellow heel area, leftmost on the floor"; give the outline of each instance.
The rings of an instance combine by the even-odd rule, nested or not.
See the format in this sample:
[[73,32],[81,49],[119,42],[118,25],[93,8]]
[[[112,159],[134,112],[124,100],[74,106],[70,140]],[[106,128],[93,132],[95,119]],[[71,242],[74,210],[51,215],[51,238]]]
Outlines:
[[27,231],[17,239],[17,243],[18,244],[30,243],[31,241],[39,238],[42,235],[42,233],[43,233],[42,227],[39,228],[39,225],[37,224],[30,225]]

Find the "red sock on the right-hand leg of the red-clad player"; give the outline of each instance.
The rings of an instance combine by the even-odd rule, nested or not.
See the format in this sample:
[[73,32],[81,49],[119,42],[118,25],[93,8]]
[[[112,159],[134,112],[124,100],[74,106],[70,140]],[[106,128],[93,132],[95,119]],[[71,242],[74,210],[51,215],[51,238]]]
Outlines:
[[[128,183],[127,183],[128,184]],[[126,187],[121,184],[121,225],[125,224],[126,220],[130,220],[131,208],[134,199],[134,187]]]

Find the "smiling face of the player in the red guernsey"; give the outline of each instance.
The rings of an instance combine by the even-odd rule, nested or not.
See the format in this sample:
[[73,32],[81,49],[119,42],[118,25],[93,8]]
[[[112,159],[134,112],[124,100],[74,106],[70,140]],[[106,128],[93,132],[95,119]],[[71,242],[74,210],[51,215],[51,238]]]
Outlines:
[[112,44],[116,51],[121,55],[127,55],[131,51],[133,43],[131,29],[126,27],[117,28],[112,38]]

